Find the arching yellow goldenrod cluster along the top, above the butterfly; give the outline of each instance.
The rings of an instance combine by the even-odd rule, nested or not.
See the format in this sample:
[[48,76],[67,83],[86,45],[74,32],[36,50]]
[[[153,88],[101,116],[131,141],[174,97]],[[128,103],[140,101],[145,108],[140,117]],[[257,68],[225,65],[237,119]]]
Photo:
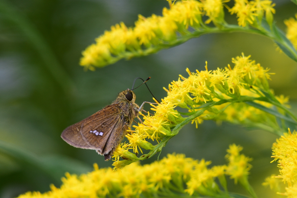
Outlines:
[[[95,66],[113,64],[121,58],[129,59],[155,53],[192,37],[216,32],[217,28],[228,29],[223,9],[224,2],[227,1],[229,0],[177,1],[170,5],[170,9],[163,8],[163,16],[152,15],[146,18],[139,15],[135,27],[127,27],[123,22],[111,26],[110,31],[105,31],[95,39],[95,44],[83,51],[80,65],[94,70]],[[245,27],[249,24],[259,28],[264,16],[269,24],[272,23],[272,13],[275,10],[271,2],[235,0],[234,7],[228,9],[231,14],[237,15],[239,26]],[[208,18],[205,22],[202,20],[203,16]],[[206,26],[210,22],[213,22],[216,28]]]

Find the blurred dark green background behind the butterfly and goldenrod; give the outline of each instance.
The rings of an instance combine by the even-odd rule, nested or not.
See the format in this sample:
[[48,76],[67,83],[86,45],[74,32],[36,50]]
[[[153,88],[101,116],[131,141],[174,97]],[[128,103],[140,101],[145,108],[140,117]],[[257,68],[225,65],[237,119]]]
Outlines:
[[[297,6],[289,0],[274,1],[275,20],[285,31],[283,20],[293,17]],[[233,2],[229,2],[231,6]],[[83,71],[79,66],[81,51],[94,39],[123,21],[133,26],[138,14],[161,15],[168,7],[163,0],[0,0],[0,197],[16,197],[26,191],[50,190],[61,185],[64,172],[84,173],[111,166],[93,150],[74,148],[60,134],[69,125],[110,104],[117,93],[131,88],[136,77],[147,83],[158,98],[185,69],[216,69],[231,64],[231,58],[252,55],[264,68],[271,68],[271,88],[276,94],[290,96],[297,114],[297,63],[276,50],[274,43],[259,35],[246,33],[209,34],[157,54],[121,60],[113,65]],[[226,14],[229,23],[235,16]],[[140,81],[138,82],[140,83]],[[151,101],[145,86],[135,90],[136,102]],[[149,110],[150,106],[145,106]],[[246,129],[205,121],[198,129],[185,126],[162,150],[185,153],[194,159],[224,164],[231,143],[244,147],[251,162],[250,181],[259,197],[276,197],[261,186],[264,178],[278,174],[272,159],[271,145],[277,136],[257,129]],[[141,163],[150,163],[157,155]],[[245,193],[233,181],[230,191]]]

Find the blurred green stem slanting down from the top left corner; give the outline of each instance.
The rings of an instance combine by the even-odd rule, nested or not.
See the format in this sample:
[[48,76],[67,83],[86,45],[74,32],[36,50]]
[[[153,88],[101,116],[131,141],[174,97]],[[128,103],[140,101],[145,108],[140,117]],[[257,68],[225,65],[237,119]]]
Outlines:
[[67,72],[63,69],[53,51],[50,49],[34,24],[22,15],[20,11],[15,10],[4,0],[0,0],[0,12],[8,20],[18,26],[23,34],[28,38],[32,46],[36,49],[44,61],[47,70],[64,90],[64,93],[72,94],[72,92],[75,91],[74,83]]

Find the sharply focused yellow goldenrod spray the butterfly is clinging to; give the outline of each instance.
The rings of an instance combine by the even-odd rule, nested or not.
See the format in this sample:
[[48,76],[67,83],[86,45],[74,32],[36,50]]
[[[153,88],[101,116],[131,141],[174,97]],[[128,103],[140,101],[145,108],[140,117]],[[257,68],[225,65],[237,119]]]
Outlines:
[[[180,75],[177,81],[169,84],[168,89],[164,88],[167,96],[162,102],[151,104],[154,115],[143,115],[144,121],[133,126],[135,130],[129,130],[131,133],[126,135],[129,142],[122,143],[114,152],[115,169],[161,151],[162,144],[165,145],[165,141],[178,133],[181,125],[190,121],[196,127],[203,120],[216,120],[258,126],[271,132],[281,131],[274,115],[245,103],[256,102],[271,108],[269,102],[256,100],[265,97],[263,93],[274,97],[268,85],[271,74],[268,73],[269,69],[264,69],[249,58],[244,54],[233,58],[233,69],[230,65],[214,71],[209,71],[207,65],[205,71],[190,72],[186,69],[189,77]],[[287,101],[283,96],[277,99],[283,103]],[[187,112],[178,112],[175,108],[177,106]],[[157,140],[158,144],[153,145],[148,139]],[[138,157],[138,153],[143,153],[141,148],[151,151]]]

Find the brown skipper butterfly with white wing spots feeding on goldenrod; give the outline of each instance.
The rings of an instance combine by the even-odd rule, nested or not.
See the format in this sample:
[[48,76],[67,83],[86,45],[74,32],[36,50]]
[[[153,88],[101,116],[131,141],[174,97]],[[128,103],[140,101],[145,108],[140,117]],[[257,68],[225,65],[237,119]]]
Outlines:
[[104,155],[105,161],[110,160],[145,103],[139,107],[135,103],[136,96],[132,90],[133,88],[121,91],[110,105],[68,126],[61,134],[62,139],[77,148],[96,150],[100,155]]

